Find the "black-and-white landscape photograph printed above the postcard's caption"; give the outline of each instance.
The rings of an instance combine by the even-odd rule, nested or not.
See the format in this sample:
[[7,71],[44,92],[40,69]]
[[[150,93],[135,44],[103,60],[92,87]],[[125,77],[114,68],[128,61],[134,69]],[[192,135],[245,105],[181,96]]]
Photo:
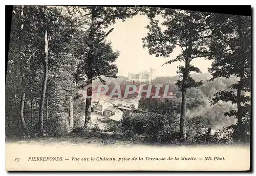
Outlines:
[[[245,146],[249,153],[251,15],[30,5],[12,6],[11,15],[6,148]],[[95,157],[104,160],[128,159]]]

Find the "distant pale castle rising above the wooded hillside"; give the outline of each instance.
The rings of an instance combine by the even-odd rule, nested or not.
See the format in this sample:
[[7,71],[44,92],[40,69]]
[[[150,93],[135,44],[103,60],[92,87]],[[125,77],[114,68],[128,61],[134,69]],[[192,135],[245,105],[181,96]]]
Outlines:
[[129,73],[128,80],[135,82],[152,82],[156,79],[156,71],[150,68],[150,71],[139,72],[138,74]]

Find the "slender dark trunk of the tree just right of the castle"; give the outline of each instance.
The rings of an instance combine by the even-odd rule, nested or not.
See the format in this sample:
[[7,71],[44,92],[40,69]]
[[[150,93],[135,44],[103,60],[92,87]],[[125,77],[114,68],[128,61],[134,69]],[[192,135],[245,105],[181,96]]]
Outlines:
[[189,60],[185,61],[185,71],[182,78],[182,93],[181,93],[181,109],[180,109],[180,139],[181,142],[186,141],[186,99],[187,99],[187,78],[188,78]]

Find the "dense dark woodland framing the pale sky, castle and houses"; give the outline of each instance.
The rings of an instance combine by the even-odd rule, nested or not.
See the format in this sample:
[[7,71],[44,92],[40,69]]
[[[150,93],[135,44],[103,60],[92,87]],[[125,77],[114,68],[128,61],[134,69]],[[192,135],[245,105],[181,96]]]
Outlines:
[[[92,98],[81,90],[117,82],[119,51],[106,37],[117,20],[145,15],[141,47],[180,62],[177,76],[157,77],[172,99],[142,97],[138,108],[104,129],[91,125]],[[160,21],[159,18],[162,20]],[[121,41],[120,41],[121,42]],[[169,58],[175,48],[181,53]],[[193,59],[212,60],[202,74]],[[95,133],[150,143],[249,142],[251,18],[164,8],[14,6],[6,73],[6,137],[35,138]],[[86,91],[90,97],[92,87]],[[160,92],[162,92],[161,90]],[[134,98],[130,95],[128,98]],[[133,107],[134,108],[134,107]],[[212,129],[219,129],[211,134]],[[223,135],[224,134],[224,135]],[[118,138],[119,139],[119,138]]]

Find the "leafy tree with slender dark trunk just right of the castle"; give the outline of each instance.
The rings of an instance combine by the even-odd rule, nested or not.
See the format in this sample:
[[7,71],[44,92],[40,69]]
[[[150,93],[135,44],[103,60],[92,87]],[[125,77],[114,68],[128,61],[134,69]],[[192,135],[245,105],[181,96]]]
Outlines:
[[[172,64],[176,61],[183,61],[179,65],[182,79],[177,80],[176,85],[182,93],[181,113],[180,113],[180,138],[186,139],[186,92],[190,87],[200,86],[202,81],[196,82],[190,72],[201,73],[191,61],[195,58],[206,57],[207,48],[205,46],[208,14],[196,11],[185,11],[175,9],[145,8],[144,13],[150,19],[150,24],[146,26],[149,30],[143,40],[143,48],[147,48],[151,55],[156,57],[169,57],[177,46],[182,50],[175,59],[170,59],[165,64]],[[162,22],[156,17],[160,17]]]

